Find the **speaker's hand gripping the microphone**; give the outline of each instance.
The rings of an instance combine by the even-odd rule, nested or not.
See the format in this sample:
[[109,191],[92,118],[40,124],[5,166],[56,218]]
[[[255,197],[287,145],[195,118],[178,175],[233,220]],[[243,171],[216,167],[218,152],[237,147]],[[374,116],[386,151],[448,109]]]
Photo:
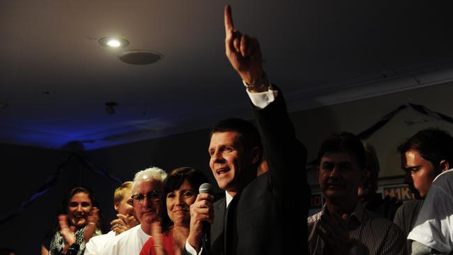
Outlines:
[[203,237],[203,222],[213,223],[214,196],[208,193],[200,193],[195,202],[190,205],[190,233],[187,242],[197,251],[201,247],[201,238]]

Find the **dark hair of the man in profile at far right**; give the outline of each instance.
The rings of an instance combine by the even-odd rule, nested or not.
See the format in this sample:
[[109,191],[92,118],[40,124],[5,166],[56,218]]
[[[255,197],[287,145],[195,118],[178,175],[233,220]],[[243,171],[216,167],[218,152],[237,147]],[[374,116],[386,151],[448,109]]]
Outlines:
[[447,131],[435,127],[420,130],[398,146],[397,150],[401,153],[401,167],[406,164],[405,154],[408,150],[416,150],[435,168],[442,160],[447,160],[450,166],[453,164],[453,137]]

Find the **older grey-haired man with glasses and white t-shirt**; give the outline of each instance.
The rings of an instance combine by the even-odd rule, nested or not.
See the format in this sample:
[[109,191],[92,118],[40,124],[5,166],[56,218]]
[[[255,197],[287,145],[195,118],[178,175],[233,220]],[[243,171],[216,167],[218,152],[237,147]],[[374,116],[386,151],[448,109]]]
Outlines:
[[151,237],[151,224],[158,219],[158,208],[162,181],[167,173],[158,167],[151,167],[135,173],[132,184],[132,199],[135,216],[140,224],[116,235],[105,246],[102,254],[139,254],[141,247]]

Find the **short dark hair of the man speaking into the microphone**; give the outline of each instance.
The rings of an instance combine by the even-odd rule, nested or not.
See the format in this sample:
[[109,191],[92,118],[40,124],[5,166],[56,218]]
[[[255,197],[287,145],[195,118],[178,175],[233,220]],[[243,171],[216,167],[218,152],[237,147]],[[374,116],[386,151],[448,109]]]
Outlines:
[[217,132],[237,132],[238,142],[245,149],[252,149],[255,146],[258,146],[263,152],[263,145],[261,144],[261,137],[259,136],[258,130],[256,127],[244,121],[241,118],[227,118],[223,121],[216,123],[213,128],[210,130],[209,139],[213,137],[213,133]]

